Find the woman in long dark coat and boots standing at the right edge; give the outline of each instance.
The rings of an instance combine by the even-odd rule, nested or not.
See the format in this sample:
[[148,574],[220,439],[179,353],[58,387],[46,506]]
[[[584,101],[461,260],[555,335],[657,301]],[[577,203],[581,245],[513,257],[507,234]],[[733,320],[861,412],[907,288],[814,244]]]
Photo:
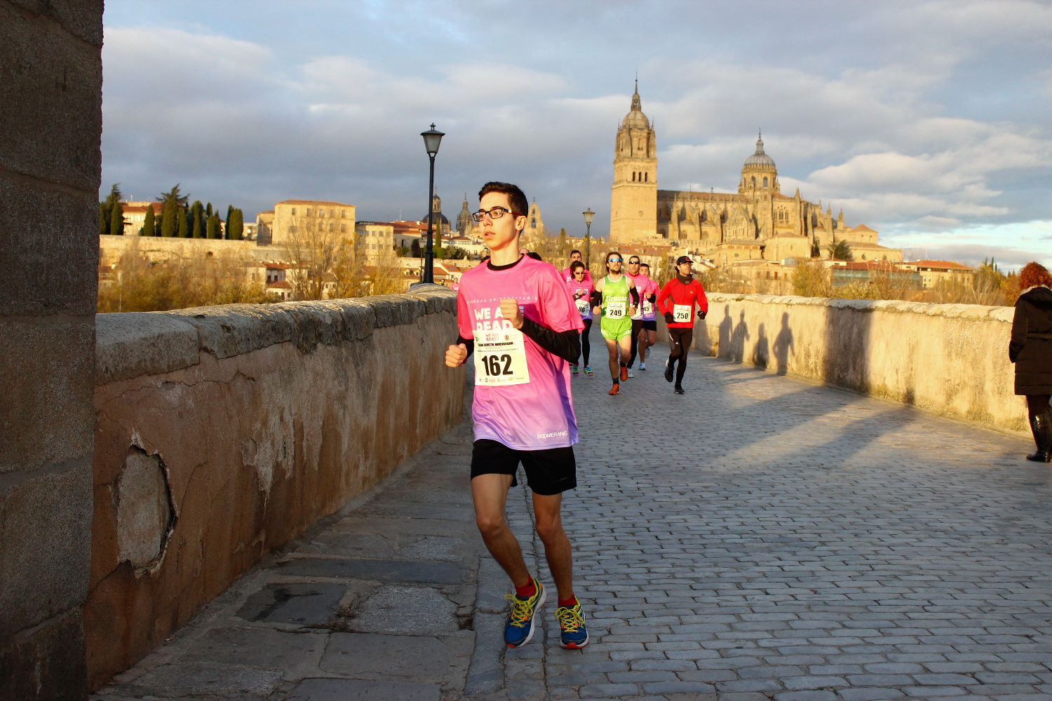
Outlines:
[[1008,357],[1015,364],[1015,393],[1027,395],[1037,452],[1028,460],[1052,462],[1052,275],[1028,263],[1019,271],[1019,298],[1012,317]]

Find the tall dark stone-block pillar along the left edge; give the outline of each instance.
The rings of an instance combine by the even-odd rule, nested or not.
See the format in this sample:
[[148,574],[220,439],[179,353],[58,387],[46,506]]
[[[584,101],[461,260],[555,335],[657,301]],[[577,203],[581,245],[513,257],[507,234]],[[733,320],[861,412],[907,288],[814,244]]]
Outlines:
[[82,699],[102,0],[0,0],[0,699]]

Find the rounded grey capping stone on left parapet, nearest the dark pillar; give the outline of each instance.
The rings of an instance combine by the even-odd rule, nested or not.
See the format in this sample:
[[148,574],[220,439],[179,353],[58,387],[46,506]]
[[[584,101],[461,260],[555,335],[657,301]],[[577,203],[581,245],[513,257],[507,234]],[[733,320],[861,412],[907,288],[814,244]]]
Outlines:
[[201,357],[198,331],[171,314],[125,312],[95,317],[97,382],[181,370]]

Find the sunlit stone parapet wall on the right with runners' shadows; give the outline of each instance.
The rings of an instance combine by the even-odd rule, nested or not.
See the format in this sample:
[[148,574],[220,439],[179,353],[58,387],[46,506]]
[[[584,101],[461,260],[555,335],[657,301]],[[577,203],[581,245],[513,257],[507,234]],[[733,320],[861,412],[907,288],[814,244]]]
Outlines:
[[1026,404],[1012,393],[1011,307],[708,298],[694,331],[703,353],[1029,435]]

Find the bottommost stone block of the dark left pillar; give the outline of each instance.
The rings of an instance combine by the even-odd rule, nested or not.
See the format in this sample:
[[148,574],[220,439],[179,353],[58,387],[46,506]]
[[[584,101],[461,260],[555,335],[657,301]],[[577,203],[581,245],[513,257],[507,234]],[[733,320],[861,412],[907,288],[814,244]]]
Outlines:
[[[12,669],[17,674],[8,674]],[[82,701],[84,679],[79,609],[46,621],[31,635],[0,638],[0,699]]]

